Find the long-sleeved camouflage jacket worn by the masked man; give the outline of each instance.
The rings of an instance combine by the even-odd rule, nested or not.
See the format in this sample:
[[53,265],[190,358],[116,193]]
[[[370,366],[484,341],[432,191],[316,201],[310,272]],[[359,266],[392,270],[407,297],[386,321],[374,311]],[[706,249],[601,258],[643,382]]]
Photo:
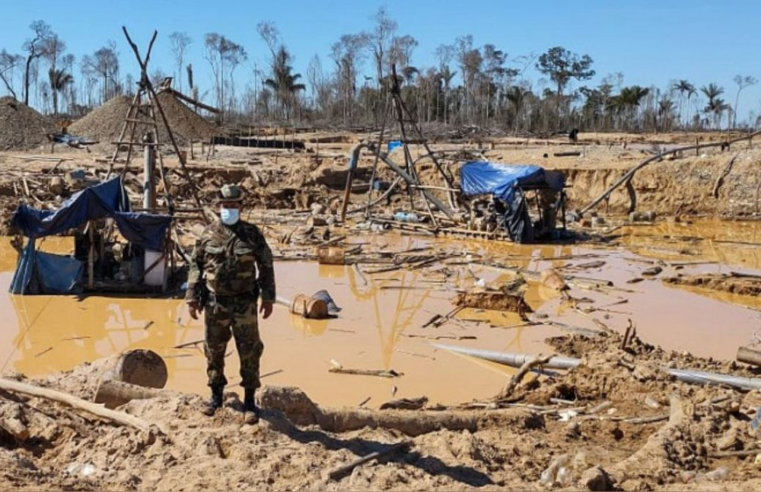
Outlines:
[[186,301],[198,299],[203,286],[231,296],[254,292],[257,284],[262,300],[274,302],[272,252],[259,228],[243,221],[232,227],[219,221],[209,225],[193,250]]

